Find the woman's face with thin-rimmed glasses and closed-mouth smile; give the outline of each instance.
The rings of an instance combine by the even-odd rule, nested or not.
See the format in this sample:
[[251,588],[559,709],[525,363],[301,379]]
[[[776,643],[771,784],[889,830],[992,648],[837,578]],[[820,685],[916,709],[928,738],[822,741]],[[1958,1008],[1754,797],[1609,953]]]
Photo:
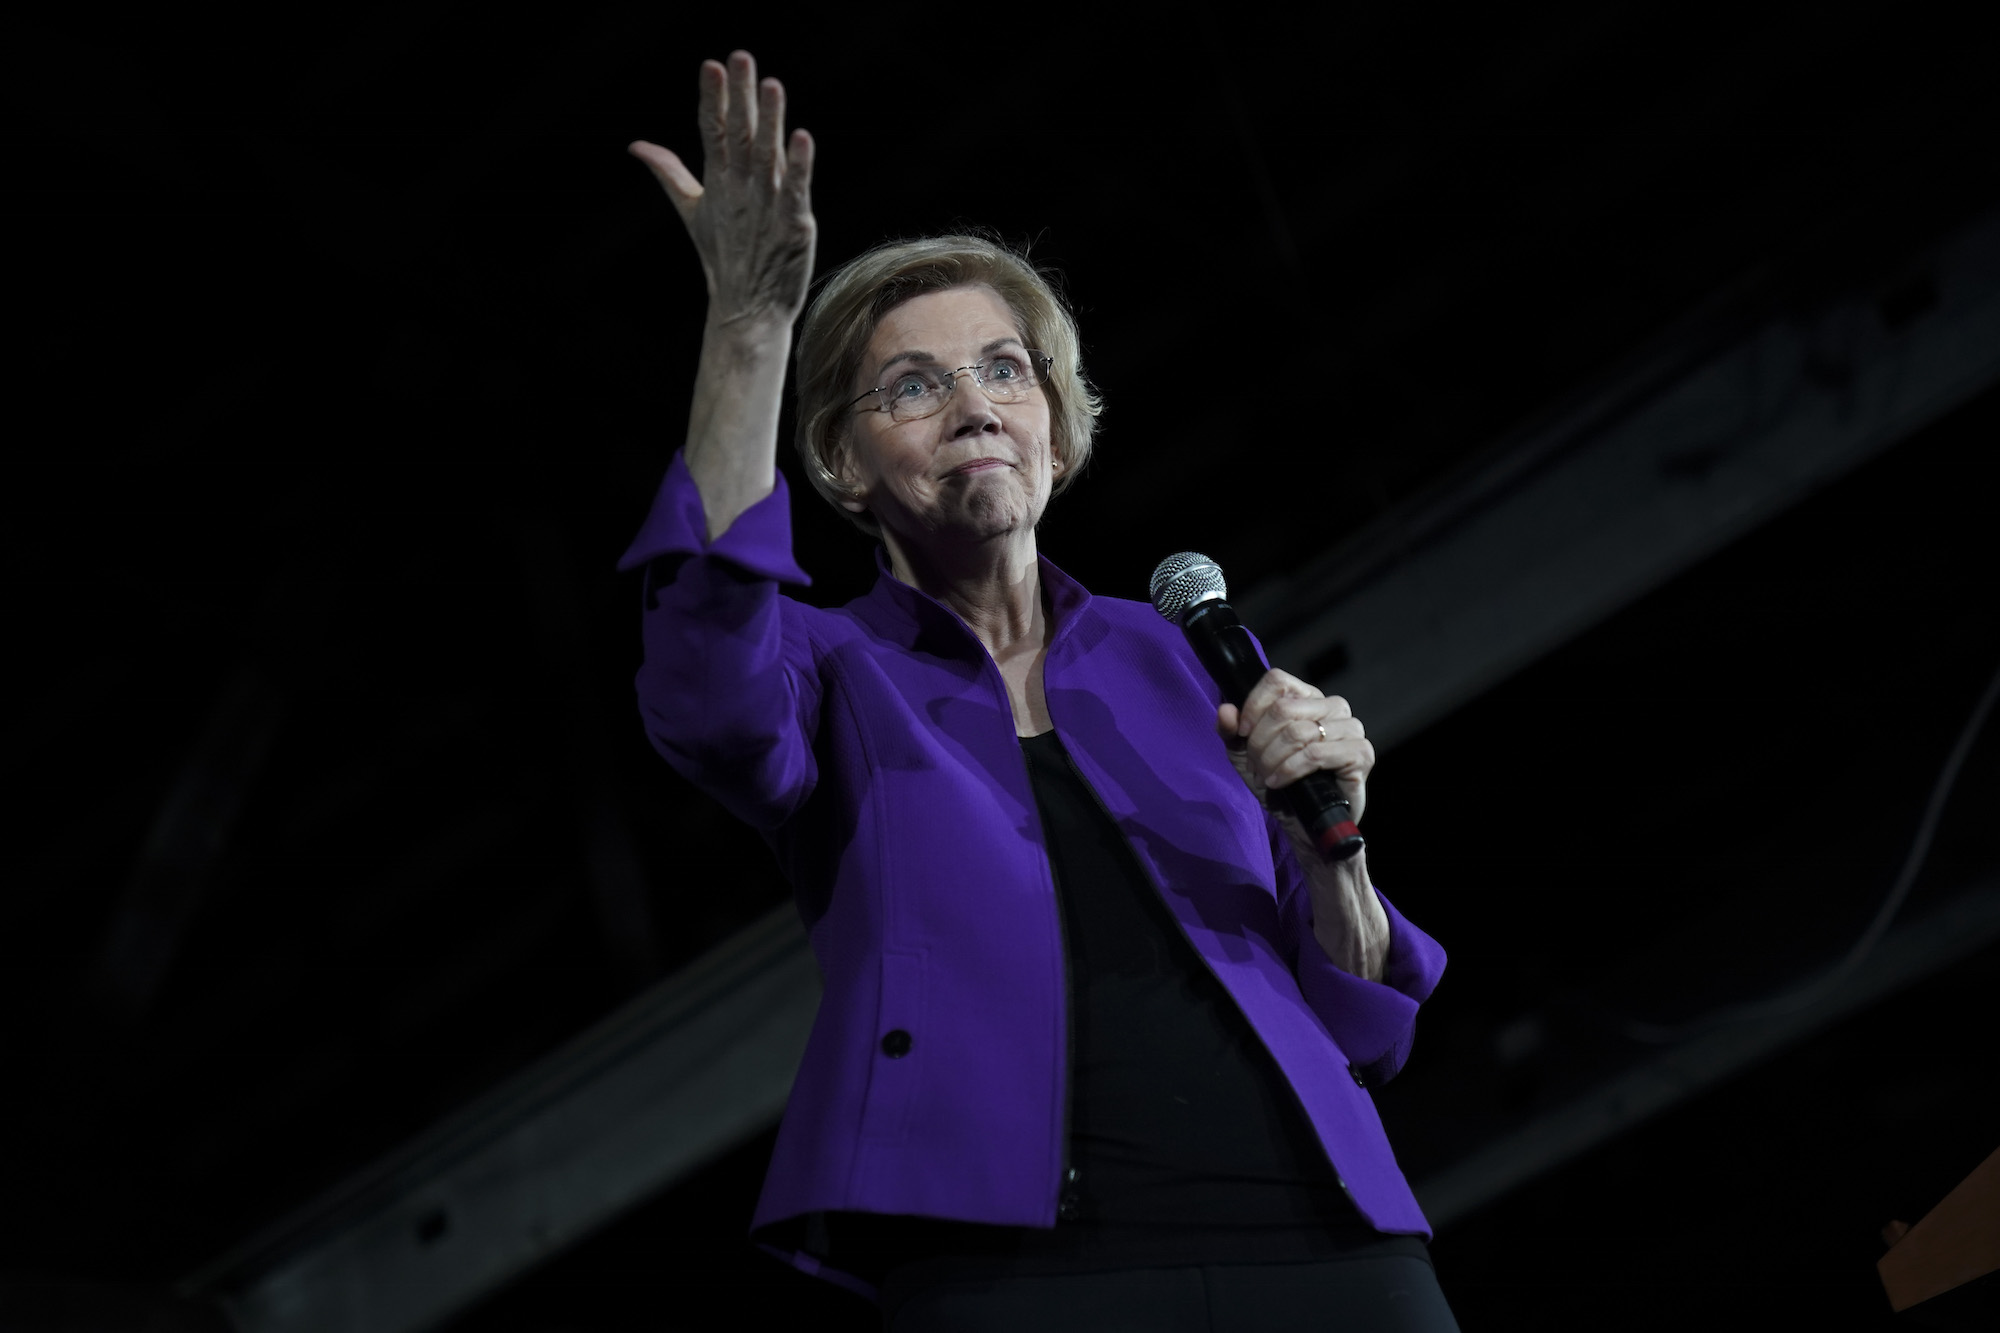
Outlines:
[[[876,324],[854,394],[898,368],[952,370],[1022,348],[1014,312],[990,286],[914,296]],[[862,404],[866,408],[868,404]],[[874,516],[892,540],[934,544],[1028,536],[1048,506],[1058,468],[1048,444],[1048,394],[992,402],[960,376],[944,408],[920,420],[856,410],[842,450],[844,504]]]

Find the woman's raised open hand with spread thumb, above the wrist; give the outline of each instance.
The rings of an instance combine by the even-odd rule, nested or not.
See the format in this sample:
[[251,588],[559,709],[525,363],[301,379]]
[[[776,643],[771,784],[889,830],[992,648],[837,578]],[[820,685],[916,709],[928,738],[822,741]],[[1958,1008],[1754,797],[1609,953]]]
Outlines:
[[702,62],[702,178],[668,148],[628,152],[652,168],[708,276],[710,326],[790,328],[812,282],[812,136],[784,134],[784,84],[758,82],[746,50]]

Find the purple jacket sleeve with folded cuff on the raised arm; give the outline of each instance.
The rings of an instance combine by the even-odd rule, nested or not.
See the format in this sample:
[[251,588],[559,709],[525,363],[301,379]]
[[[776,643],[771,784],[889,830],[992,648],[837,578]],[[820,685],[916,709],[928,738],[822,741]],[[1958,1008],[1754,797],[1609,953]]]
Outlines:
[[800,606],[784,474],[712,542],[676,452],[618,568],[644,568],[638,709],[652,747],[732,815],[770,833],[812,795],[820,675]]

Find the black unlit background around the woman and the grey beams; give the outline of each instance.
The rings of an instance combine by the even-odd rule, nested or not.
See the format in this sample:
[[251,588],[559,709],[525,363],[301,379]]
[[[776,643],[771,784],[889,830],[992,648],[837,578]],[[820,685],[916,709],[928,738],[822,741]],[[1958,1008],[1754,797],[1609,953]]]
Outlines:
[[[702,56],[756,50],[818,136],[822,270],[972,222],[1064,272],[1110,406],[1042,540],[1116,596],[1178,548],[1250,588],[1688,318],[1892,292],[2000,200],[1990,44],[1892,4],[4,38],[16,1287],[164,1289],[782,901],[646,749],[612,574],[702,318],[624,144],[694,156]],[[1760,995],[1860,929],[2000,664],[1996,422],[1990,390],[1384,757],[1374,871],[1452,951],[1380,1095],[1412,1177],[1632,1059],[1590,1013]],[[794,494],[810,596],[856,594],[866,544]],[[1912,911],[2000,865],[1996,751]],[[1888,1327],[1876,1229],[2000,1137],[1996,963],[1442,1233],[1464,1327]],[[766,1153],[452,1327],[866,1327],[742,1243]]]

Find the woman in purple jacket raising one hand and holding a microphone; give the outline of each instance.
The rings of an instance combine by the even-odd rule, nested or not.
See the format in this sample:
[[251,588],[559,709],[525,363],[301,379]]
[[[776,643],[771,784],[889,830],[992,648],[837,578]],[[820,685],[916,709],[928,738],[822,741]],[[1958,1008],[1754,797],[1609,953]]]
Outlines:
[[818,610],[776,470],[812,140],[746,52],[702,178],[632,144],[708,274],[688,442],[624,558],[640,711],[778,855],[826,981],[754,1237],[920,1329],[1454,1329],[1366,1091],[1444,953],[1268,791],[1374,751],[1282,671],[1222,703],[1182,632],[1036,522],[1098,412],[1070,312],[978,236],[878,246],[798,330],[798,450],[878,538]]

